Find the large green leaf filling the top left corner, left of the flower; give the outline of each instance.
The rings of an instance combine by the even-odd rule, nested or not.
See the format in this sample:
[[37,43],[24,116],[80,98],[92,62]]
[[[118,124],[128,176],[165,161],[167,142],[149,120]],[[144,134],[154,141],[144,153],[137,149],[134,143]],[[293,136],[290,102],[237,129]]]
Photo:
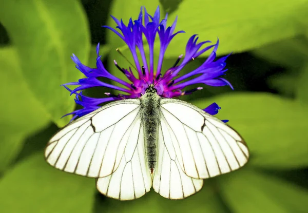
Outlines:
[[87,63],[90,39],[79,1],[1,1],[0,21],[7,29],[29,89],[57,125],[69,118],[73,97],[60,85],[75,82],[82,73],[70,59]]

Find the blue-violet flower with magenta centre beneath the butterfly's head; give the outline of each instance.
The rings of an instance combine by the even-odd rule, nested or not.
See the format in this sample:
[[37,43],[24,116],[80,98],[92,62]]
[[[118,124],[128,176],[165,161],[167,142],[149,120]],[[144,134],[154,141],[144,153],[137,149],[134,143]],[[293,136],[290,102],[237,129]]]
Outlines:
[[[120,32],[109,26],[103,27],[108,28],[117,34],[129,47],[134,64],[136,65],[136,70],[138,71],[138,76],[135,76],[132,73],[131,67],[128,69],[121,68],[116,61],[114,61],[114,65],[126,76],[130,83],[125,82],[108,72],[101,61],[101,55],[99,54],[100,44],[97,45],[96,49],[96,68],[90,68],[82,64],[78,57],[73,54],[71,59],[76,64],[76,68],[78,68],[86,76],[86,78],[80,79],[78,82],[72,82],[63,85],[71,92],[71,94],[76,95],[75,102],[83,107],[82,109],[68,113],[74,115],[72,120],[77,117],[82,117],[83,115],[100,108],[100,105],[104,102],[128,98],[138,98],[145,92],[148,84],[155,84],[157,93],[161,97],[165,98],[174,98],[185,94],[191,94],[197,90],[201,90],[202,87],[185,90],[185,88],[189,85],[200,83],[208,86],[228,85],[233,89],[232,85],[227,80],[221,78],[221,76],[224,75],[227,71],[227,69],[225,69],[225,60],[227,59],[228,55],[215,61],[219,40],[217,40],[216,44],[213,45],[209,45],[211,43],[210,41],[198,43],[197,35],[192,35],[187,42],[185,56],[183,57],[183,55],[180,55],[174,66],[170,67],[162,74],[164,54],[169,43],[177,34],[184,33],[184,31],[178,31],[174,33],[177,24],[177,18],[171,26],[167,27],[167,15],[160,21],[159,7],[153,16],[149,15],[145,8],[144,12],[143,8],[141,8],[138,19],[132,21],[130,18],[127,26],[123,23],[122,20],[119,21],[112,15],[111,17],[117,24],[117,28],[120,30]],[[155,66],[153,58],[154,43],[157,34],[160,40],[160,52],[158,64]],[[143,36],[146,38],[146,42],[149,47],[149,60],[147,60],[144,51],[144,41],[142,40]],[[204,47],[205,44],[207,46]],[[137,56],[137,48],[141,55],[141,61],[139,61]],[[202,53],[212,48],[213,50],[211,50],[207,60],[200,67],[182,76],[179,75],[180,71],[187,65],[188,62],[195,60]],[[180,63],[181,60],[182,62]],[[110,79],[111,81],[118,82],[122,84],[123,87],[104,83],[98,80],[99,77],[104,77]],[[71,90],[67,87],[69,85],[77,85],[78,87]],[[110,89],[119,90],[120,92],[124,92],[126,94],[113,95],[108,92],[105,93],[107,96],[106,98],[91,98],[82,94],[82,90],[91,87],[108,87]],[[205,108],[204,111],[208,112],[209,114],[216,114],[218,109],[220,109],[220,107],[214,103]]]

